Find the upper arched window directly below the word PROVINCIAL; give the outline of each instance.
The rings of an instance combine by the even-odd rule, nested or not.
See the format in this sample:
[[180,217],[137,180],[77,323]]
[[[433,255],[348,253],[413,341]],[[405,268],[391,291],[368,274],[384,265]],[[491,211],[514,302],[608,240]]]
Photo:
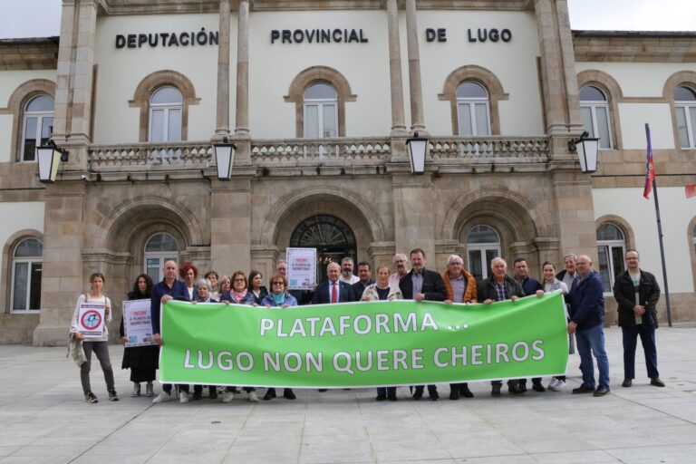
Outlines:
[[333,138],[338,128],[338,94],[326,82],[315,82],[304,91],[304,137]]

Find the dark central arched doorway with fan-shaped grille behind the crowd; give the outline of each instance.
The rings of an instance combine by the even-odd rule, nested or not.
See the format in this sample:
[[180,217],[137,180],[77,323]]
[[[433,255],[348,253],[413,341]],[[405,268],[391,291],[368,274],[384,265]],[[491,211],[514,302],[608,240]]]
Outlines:
[[326,266],[341,263],[344,256],[356,260],[358,251],[353,229],[343,220],[330,215],[304,219],[290,236],[290,247],[316,248],[317,282],[326,280]]

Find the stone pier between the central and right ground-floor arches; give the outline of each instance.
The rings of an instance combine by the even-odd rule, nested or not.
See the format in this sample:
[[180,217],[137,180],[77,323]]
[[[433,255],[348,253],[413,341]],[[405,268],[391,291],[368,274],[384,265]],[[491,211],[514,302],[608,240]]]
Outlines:
[[435,204],[430,174],[413,176],[408,167],[391,177],[394,205],[394,244],[397,253],[408,256],[411,249],[425,251],[430,269],[436,268]]

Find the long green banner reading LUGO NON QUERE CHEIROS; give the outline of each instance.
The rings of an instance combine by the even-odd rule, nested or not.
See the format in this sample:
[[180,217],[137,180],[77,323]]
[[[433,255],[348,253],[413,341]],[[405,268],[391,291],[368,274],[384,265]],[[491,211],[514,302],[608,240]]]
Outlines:
[[162,306],[160,381],[342,388],[564,375],[560,292],[494,304]]

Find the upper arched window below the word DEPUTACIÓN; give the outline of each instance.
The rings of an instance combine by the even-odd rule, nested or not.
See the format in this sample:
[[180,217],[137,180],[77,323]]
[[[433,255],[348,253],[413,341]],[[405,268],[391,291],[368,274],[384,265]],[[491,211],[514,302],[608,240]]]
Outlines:
[[181,140],[181,107],[184,99],[175,87],[160,87],[150,96],[150,141]]

